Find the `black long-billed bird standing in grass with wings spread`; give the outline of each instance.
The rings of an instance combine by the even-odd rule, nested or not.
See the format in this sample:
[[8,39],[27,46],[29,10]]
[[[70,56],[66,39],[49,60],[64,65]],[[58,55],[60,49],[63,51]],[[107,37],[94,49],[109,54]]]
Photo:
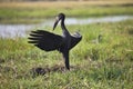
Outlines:
[[79,32],[75,32],[73,36],[66,30],[64,24],[65,16],[64,13],[59,13],[53,30],[58,26],[61,20],[62,36],[54,34],[44,30],[31,31],[29,43],[33,43],[35,47],[44,50],[44,51],[53,51],[58,50],[63,55],[64,63],[68,70],[70,70],[69,63],[69,51],[80,42],[82,36]]

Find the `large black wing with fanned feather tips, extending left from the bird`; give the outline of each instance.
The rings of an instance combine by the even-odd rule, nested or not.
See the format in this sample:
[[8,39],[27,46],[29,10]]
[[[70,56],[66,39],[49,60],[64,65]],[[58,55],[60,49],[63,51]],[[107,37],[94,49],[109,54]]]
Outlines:
[[31,31],[29,39],[29,43],[33,43],[35,47],[45,51],[59,49],[63,42],[61,36],[44,30]]

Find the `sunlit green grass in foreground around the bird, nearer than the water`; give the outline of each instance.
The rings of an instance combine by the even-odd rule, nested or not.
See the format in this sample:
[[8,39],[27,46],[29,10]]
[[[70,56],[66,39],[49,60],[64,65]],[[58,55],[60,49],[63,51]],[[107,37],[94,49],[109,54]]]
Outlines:
[[[51,28],[48,28],[51,29]],[[71,50],[66,72],[32,77],[35,67],[64,66],[58,51],[44,52],[27,38],[0,39],[0,89],[132,89],[133,20],[115,23],[69,26],[80,29],[82,41]],[[55,33],[60,28],[55,30]],[[60,31],[61,32],[61,31]],[[92,40],[102,34],[99,43]]]

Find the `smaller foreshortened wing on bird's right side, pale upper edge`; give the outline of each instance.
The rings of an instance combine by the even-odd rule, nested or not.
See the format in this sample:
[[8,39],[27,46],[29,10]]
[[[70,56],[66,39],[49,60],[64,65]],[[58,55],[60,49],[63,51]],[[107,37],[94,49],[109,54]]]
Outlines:
[[81,41],[81,39],[82,39],[82,36],[79,32],[75,32],[73,36],[71,36],[70,49],[76,46]]

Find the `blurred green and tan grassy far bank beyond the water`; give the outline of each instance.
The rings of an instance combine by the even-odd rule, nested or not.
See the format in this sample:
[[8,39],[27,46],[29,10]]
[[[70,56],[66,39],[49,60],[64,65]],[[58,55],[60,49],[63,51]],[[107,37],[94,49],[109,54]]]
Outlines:
[[59,12],[79,18],[132,16],[133,1],[1,2],[0,23],[38,23],[42,18],[51,18]]

